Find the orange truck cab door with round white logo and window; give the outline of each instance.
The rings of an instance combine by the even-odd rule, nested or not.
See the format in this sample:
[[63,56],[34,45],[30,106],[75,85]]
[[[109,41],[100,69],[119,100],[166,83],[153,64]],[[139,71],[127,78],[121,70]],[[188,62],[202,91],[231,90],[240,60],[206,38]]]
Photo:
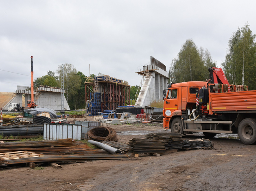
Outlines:
[[173,88],[168,90],[168,94],[165,100],[166,117],[170,117],[171,114],[178,109],[178,98],[179,98],[179,88]]

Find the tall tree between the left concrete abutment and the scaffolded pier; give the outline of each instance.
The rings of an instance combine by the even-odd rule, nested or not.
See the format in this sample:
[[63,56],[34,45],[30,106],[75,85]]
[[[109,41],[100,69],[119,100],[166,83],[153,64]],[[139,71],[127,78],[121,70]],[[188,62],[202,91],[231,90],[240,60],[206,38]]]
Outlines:
[[[61,86],[61,68],[59,65],[57,73],[59,75],[59,86]],[[66,99],[70,109],[76,109],[78,90],[81,86],[81,78],[77,75],[77,69],[72,64],[63,64],[63,85],[66,92]]]

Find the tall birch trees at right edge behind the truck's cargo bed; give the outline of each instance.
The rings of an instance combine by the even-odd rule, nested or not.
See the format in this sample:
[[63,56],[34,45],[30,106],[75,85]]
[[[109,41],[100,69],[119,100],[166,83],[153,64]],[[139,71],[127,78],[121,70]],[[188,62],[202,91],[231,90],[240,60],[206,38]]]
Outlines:
[[256,43],[255,34],[246,23],[238,28],[228,43],[228,53],[222,63],[226,77],[233,84],[248,85],[255,89],[256,72]]

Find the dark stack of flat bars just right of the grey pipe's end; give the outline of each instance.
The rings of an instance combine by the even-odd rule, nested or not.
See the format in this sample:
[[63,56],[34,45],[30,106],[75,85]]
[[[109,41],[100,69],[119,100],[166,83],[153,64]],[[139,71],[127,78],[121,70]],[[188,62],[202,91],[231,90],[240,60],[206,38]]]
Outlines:
[[164,153],[165,141],[153,139],[135,139],[129,141],[131,153]]

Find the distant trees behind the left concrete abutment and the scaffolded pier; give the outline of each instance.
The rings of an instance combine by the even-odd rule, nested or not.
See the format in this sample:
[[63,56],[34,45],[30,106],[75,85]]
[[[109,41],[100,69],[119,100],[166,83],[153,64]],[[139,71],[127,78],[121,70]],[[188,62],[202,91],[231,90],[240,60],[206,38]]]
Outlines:
[[[53,71],[48,71],[47,75],[37,77],[37,79],[34,80],[34,87],[37,88],[39,86],[49,86],[61,88],[61,69],[62,65],[59,65],[56,71],[57,75],[55,75],[55,72]],[[90,75],[90,77],[93,76],[95,75]],[[72,64],[63,64],[63,86],[65,89],[65,97],[70,109],[85,108],[86,100],[84,83],[86,77],[87,76],[84,75],[81,71],[77,71],[77,69]],[[134,99],[138,97],[138,95],[136,96],[138,88],[138,86],[130,87],[130,99],[133,104],[135,103]]]

